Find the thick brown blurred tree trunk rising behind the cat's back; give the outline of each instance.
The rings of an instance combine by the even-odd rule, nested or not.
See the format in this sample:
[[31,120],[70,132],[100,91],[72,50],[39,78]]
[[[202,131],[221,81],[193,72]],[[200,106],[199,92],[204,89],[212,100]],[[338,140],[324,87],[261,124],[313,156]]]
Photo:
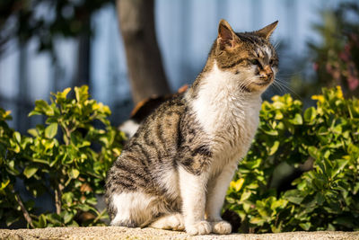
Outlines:
[[117,0],[132,97],[140,102],[170,93],[155,30],[153,0]]

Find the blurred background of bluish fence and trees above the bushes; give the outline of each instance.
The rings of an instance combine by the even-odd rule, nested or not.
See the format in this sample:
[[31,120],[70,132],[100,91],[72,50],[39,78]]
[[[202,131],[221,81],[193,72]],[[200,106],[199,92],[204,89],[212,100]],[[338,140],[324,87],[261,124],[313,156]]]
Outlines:
[[[279,21],[277,83],[305,104],[320,87],[359,93],[359,8],[354,0],[1,0],[0,107],[24,132],[35,100],[88,84],[111,122],[136,102],[191,84],[206,63],[219,20],[235,31]],[[119,24],[120,23],[120,24]]]

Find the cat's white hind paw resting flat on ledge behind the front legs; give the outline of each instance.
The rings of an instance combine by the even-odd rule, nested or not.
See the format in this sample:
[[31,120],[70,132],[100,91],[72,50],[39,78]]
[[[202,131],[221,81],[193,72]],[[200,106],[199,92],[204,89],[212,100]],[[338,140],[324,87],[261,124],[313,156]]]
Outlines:
[[171,213],[157,218],[149,227],[175,231],[185,229],[183,216],[180,213]]

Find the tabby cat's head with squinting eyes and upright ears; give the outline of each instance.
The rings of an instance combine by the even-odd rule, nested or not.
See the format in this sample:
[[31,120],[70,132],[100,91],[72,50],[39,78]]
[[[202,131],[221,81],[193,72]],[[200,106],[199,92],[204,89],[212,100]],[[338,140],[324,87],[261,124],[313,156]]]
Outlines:
[[238,81],[243,91],[263,92],[273,83],[278,57],[269,37],[277,23],[258,31],[234,32],[228,22],[219,22],[211,58],[221,71]]

